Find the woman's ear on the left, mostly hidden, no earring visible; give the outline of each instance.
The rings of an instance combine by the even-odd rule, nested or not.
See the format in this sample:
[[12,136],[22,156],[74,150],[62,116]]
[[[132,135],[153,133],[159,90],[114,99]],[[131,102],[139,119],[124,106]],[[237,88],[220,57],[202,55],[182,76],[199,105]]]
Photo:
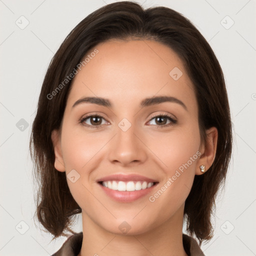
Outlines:
[[55,154],[54,167],[58,171],[65,171],[65,165],[61,152],[60,134],[58,130],[55,129],[51,132],[51,141],[53,144]]

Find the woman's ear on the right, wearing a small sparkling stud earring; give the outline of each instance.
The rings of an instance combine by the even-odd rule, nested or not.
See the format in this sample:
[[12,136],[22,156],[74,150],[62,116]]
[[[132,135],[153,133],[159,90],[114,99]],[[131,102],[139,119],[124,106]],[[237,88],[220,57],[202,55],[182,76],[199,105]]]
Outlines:
[[[217,138],[218,138],[218,130],[216,127],[211,127],[206,130],[206,141],[205,144],[201,146],[199,150],[201,152],[200,158],[197,162],[195,175],[203,174],[205,171],[209,169],[211,164],[214,161],[216,148],[217,148]],[[200,165],[205,166],[205,171],[201,172]]]

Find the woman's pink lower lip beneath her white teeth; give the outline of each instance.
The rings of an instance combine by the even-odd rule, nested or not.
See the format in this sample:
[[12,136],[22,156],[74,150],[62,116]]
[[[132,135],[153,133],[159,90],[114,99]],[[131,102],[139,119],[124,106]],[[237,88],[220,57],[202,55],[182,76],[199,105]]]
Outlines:
[[109,189],[101,184],[99,185],[102,187],[104,192],[112,199],[119,202],[132,202],[145,196],[150,191],[152,191],[152,189],[155,187],[156,184],[152,185],[151,187],[135,190],[135,191],[119,191],[119,190]]

